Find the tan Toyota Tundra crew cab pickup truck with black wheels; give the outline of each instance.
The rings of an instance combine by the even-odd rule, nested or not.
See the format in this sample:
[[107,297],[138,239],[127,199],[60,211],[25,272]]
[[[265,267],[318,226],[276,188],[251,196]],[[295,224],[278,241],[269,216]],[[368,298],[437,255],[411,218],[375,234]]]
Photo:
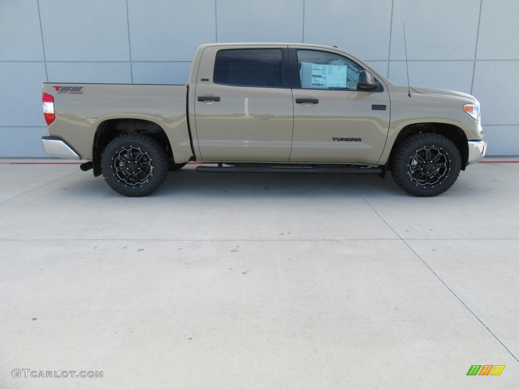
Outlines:
[[374,173],[436,196],[485,155],[471,95],[393,85],[336,47],[207,44],[188,85],[43,84],[51,157],[125,196],[169,171]]

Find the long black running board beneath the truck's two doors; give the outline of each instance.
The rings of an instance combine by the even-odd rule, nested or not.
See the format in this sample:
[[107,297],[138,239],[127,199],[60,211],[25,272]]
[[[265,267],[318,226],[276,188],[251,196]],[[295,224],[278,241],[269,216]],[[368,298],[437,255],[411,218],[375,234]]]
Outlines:
[[382,174],[381,168],[344,168],[343,166],[334,168],[333,166],[323,166],[320,168],[304,168],[301,166],[275,167],[275,166],[197,166],[198,173],[313,173],[313,174]]

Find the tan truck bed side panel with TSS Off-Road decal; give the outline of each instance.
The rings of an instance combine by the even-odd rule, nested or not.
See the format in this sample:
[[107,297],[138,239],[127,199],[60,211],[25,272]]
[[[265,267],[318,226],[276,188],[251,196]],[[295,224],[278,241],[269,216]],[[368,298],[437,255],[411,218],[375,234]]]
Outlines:
[[48,82],[43,84],[43,92],[54,97],[56,110],[49,135],[74,145],[81,159],[92,160],[95,130],[108,120],[121,117],[156,123],[168,135],[173,154],[179,161],[185,162],[193,154],[187,127],[185,85]]

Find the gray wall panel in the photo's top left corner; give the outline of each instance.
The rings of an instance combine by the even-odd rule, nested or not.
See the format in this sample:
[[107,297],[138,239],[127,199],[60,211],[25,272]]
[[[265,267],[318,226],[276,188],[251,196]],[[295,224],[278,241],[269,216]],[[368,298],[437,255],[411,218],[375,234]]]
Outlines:
[[43,61],[37,0],[2,0],[0,15],[0,61]]

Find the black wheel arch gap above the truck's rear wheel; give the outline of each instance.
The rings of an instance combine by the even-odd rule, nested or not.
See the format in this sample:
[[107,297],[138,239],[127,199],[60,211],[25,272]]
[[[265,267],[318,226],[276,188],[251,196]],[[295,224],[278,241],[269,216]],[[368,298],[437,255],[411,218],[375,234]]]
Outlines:
[[168,135],[158,123],[134,118],[107,119],[99,124],[92,144],[93,174],[95,177],[102,173],[101,155],[106,145],[116,136],[132,132],[148,134],[155,138],[162,148],[165,149],[168,158],[173,160],[173,152]]

